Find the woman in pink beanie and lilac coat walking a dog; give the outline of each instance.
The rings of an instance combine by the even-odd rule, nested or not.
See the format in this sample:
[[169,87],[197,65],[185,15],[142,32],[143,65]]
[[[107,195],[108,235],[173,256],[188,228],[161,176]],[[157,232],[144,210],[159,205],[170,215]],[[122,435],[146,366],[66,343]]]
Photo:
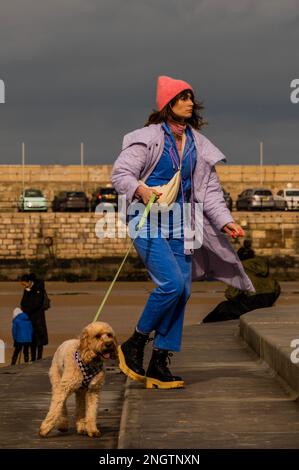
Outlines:
[[[153,193],[158,203],[163,193],[167,196],[170,190],[172,197],[175,193],[181,217],[174,213],[172,217],[170,211],[166,231],[154,217],[158,222],[153,229],[152,212],[155,214],[151,211],[134,240],[156,288],[133,335],[119,348],[119,359],[121,370],[133,380],[144,382],[147,388],[168,389],[184,386],[183,379],[169,370],[169,357],[180,351],[192,279],[217,279],[251,292],[254,287],[226,237],[243,236],[244,232],[226,207],[215,170],[216,163],[226,158],[200,133],[203,106],[195,100],[191,85],[167,76],[158,78],[156,102],[157,110],[145,126],[124,137],[112,183],[131,204],[129,213],[133,215],[127,218],[131,227],[142,215],[141,211],[134,215],[134,206],[146,205]],[[186,203],[191,206],[191,242],[190,232],[185,231]],[[198,205],[203,208],[201,228],[194,220]],[[145,372],[143,353],[152,332],[153,352]]]

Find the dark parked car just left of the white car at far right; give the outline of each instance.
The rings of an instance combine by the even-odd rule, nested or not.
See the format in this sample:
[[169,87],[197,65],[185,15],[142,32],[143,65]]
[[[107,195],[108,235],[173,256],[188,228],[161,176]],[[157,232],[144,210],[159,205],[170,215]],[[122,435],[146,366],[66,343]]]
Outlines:
[[273,194],[270,189],[251,188],[238,195],[237,210],[274,209]]

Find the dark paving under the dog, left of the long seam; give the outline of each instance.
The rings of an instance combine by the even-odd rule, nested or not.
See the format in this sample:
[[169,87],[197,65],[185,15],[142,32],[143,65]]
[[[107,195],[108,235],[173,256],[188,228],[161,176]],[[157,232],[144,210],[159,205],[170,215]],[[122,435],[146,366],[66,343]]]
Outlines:
[[118,367],[107,370],[98,413],[100,438],[76,434],[75,400],[70,397],[71,418],[67,433],[52,431],[48,437],[38,436],[39,426],[50,403],[48,369],[50,359],[33,364],[0,369],[0,449],[114,449],[117,447],[122,412],[124,376]]

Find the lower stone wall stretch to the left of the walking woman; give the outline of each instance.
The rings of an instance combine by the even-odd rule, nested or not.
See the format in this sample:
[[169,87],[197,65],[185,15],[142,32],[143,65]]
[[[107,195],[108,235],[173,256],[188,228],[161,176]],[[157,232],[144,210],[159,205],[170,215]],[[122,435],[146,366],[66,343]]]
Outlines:
[[[28,269],[48,280],[112,279],[131,240],[99,238],[101,219],[94,213],[0,213],[0,280]],[[144,277],[133,248],[120,279]]]

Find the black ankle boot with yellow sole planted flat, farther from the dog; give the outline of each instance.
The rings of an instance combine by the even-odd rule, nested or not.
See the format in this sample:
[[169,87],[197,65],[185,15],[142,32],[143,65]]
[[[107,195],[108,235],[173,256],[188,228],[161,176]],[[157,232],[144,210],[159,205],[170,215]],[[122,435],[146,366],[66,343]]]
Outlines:
[[164,349],[154,349],[146,371],[146,388],[182,388],[181,377],[172,375],[168,368],[172,353]]

